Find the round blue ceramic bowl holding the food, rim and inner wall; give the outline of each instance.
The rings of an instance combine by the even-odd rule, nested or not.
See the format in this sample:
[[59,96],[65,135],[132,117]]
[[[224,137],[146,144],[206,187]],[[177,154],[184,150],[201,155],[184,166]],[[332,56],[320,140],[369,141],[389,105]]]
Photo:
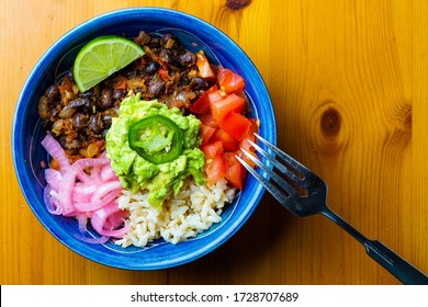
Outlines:
[[199,259],[227,241],[251,216],[263,187],[248,177],[245,190],[224,211],[222,223],[214,225],[196,238],[178,245],[158,240],[145,248],[122,248],[112,242],[91,245],[82,242],[75,218],[56,216],[47,212],[43,201],[45,185],[42,161],[47,154],[41,146],[44,130],[37,114],[38,98],[60,72],[72,66],[78,50],[90,39],[126,33],[136,36],[146,32],[172,32],[190,50],[203,49],[211,61],[222,64],[247,81],[251,116],[261,123],[260,135],[275,144],[277,128],[267,88],[258,70],[229,37],[194,16],[157,8],[133,8],[113,11],[89,20],[60,37],[38,60],[19,96],[12,127],[12,152],[15,173],[30,207],[44,227],[61,243],[92,261],[120,269],[158,270],[177,266]]

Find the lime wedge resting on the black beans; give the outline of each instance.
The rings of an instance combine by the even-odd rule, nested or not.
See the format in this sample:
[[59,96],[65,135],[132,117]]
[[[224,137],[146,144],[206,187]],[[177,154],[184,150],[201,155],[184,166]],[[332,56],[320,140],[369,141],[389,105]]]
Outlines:
[[76,57],[75,82],[86,92],[144,54],[140,46],[121,36],[94,38]]

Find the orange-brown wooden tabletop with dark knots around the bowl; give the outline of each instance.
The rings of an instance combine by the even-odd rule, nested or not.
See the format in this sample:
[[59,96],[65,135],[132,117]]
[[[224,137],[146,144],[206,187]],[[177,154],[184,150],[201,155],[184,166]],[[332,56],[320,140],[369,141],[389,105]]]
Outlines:
[[106,268],[43,228],[13,171],[16,98],[36,60],[64,33],[136,5],[191,13],[238,43],[270,91],[279,146],[325,179],[336,213],[428,272],[427,3],[1,0],[0,283],[397,284],[334,223],[294,217],[269,195],[228,242],[170,270]]

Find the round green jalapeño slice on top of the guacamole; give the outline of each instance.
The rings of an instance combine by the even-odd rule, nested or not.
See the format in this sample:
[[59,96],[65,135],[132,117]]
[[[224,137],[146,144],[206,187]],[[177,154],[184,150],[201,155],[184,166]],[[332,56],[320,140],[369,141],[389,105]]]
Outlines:
[[183,150],[182,130],[162,115],[147,116],[133,124],[127,139],[131,149],[155,164],[171,162]]

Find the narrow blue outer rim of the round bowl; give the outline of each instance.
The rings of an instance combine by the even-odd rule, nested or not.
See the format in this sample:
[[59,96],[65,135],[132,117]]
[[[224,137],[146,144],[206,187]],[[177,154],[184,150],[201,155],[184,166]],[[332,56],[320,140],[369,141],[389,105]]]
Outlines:
[[[148,12],[157,13],[157,14],[176,15],[176,16],[183,18],[187,20],[191,20],[192,22],[195,22],[198,24],[202,24],[203,26],[207,27],[209,31],[216,33],[216,35],[223,36],[222,37],[223,39],[227,41],[227,43],[230,44],[230,46],[233,46],[234,49],[238,50],[241,54],[240,56],[243,56],[245,58],[245,60],[248,61],[248,64],[251,66],[251,68],[256,72],[256,75],[259,77],[259,80],[257,80],[257,82],[259,82],[262,86],[262,90],[266,91],[266,95],[267,95],[267,99],[269,100],[268,101],[269,103],[267,103],[268,105],[266,109],[263,109],[263,112],[268,112],[267,116],[273,120],[273,122],[270,123],[270,126],[268,127],[269,128],[267,130],[268,135],[266,137],[272,144],[274,144],[274,145],[277,144],[277,122],[275,122],[273,105],[272,105],[271,100],[270,100],[270,94],[269,94],[268,88],[266,87],[266,83],[264,83],[263,79],[261,78],[259,70],[254,65],[254,62],[248,57],[248,55],[244,52],[244,49],[239,45],[237,45],[237,43],[235,43],[227,34],[222,32],[219,29],[215,27],[214,25],[210,24],[209,22],[206,22],[200,18],[196,18],[196,16],[189,14],[189,13],[185,13],[185,12],[171,10],[171,9],[157,8],[157,7],[135,7],[135,8],[119,9],[119,10],[113,10],[113,11],[110,11],[106,13],[95,15],[95,16],[78,24],[77,26],[72,27],[71,30],[66,32],[64,35],[61,35],[58,39],[56,39],[55,43],[52,44],[52,46],[40,57],[37,62],[34,65],[30,75],[27,76],[27,78],[22,87],[22,90],[20,92],[20,95],[16,100],[16,105],[15,105],[15,111],[14,111],[14,116],[13,116],[13,122],[12,122],[12,137],[11,137],[11,143],[12,143],[11,149],[12,149],[12,158],[13,158],[13,166],[14,166],[15,175],[18,178],[18,181],[19,181],[21,191],[25,197],[25,201],[29,204],[30,208],[32,209],[33,214],[36,216],[38,221],[45,227],[45,229],[47,229],[48,232],[52,236],[54,236],[59,242],[61,242],[64,246],[66,246],[71,251],[80,254],[83,258],[87,258],[91,261],[94,261],[97,263],[100,263],[100,264],[103,264],[106,266],[111,266],[111,268],[116,268],[116,269],[138,270],[138,271],[170,269],[173,266],[182,265],[182,264],[185,264],[188,262],[195,261],[196,259],[200,259],[203,255],[217,249],[219,246],[225,243],[232,236],[234,236],[235,232],[238,231],[244,226],[244,224],[247,221],[247,219],[252,215],[252,213],[258,207],[258,204],[260,203],[260,200],[262,198],[262,196],[266,192],[264,187],[262,187],[261,184],[257,184],[256,190],[254,190],[255,197],[252,197],[252,200],[251,200],[252,205],[249,206],[249,208],[243,213],[243,216],[236,223],[234,223],[233,225],[229,226],[229,228],[227,229],[228,231],[224,232],[222,236],[217,237],[216,239],[212,240],[210,243],[206,243],[203,248],[201,248],[192,253],[189,253],[189,254],[181,257],[181,258],[172,258],[172,259],[169,259],[169,261],[162,261],[162,262],[158,262],[155,264],[125,265],[124,263],[116,263],[114,261],[108,262],[108,260],[104,260],[102,258],[94,259],[93,257],[91,257],[90,253],[87,253],[85,251],[85,249],[83,250],[77,249],[71,243],[65,241],[58,234],[53,231],[53,229],[50,229],[49,225],[47,225],[47,223],[43,218],[41,218],[41,216],[37,214],[34,206],[31,204],[30,191],[29,191],[30,187],[25,186],[24,179],[21,177],[21,173],[25,167],[23,166],[24,163],[22,162],[22,159],[23,159],[22,155],[23,154],[20,150],[21,140],[18,139],[15,136],[18,136],[18,132],[20,129],[20,127],[18,126],[18,120],[20,118],[20,115],[22,115],[24,113],[25,107],[26,107],[26,105],[23,105],[21,102],[23,101],[23,98],[24,98],[26,91],[29,89],[31,89],[31,87],[32,87],[32,80],[34,79],[34,75],[36,73],[36,71],[41,67],[43,67],[43,62],[48,60],[48,57],[53,52],[55,52],[63,44],[65,44],[64,42],[69,42],[74,37],[77,37],[79,35],[79,33],[85,32],[86,31],[85,29],[92,25],[92,24],[98,24],[100,22],[108,21],[111,18],[127,16],[127,15],[140,15],[140,14],[144,15],[144,14],[147,14]],[[21,161],[20,161],[20,159],[21,159]]]

